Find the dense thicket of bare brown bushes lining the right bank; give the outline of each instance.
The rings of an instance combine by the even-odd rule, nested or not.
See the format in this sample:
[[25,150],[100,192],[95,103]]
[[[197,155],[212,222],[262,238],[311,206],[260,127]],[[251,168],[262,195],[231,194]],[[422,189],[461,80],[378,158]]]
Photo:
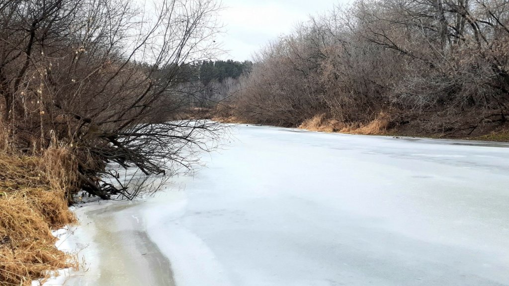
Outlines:
[[232,115],[293,127],[319,116],[336,130],[378,121],[414,134],[480,134],[507,122],[508,72],[507,1],[360,0],[262,50]]

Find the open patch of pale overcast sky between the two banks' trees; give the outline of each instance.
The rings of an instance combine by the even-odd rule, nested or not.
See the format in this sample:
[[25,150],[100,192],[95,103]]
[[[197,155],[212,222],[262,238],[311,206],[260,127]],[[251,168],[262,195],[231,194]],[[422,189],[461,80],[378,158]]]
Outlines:
[[225,33],[219,37],[228,54],[222,59],[250,60],[253,51],[292,27],[308,15],[332,9],[335,0],[222,0],[220,12]]

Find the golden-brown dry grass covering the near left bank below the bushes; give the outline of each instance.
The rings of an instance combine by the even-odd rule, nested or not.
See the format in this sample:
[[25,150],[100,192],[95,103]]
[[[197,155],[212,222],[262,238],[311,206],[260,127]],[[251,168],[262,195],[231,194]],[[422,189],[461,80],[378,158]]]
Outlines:
[[43,156],[0,151],[0,285],[31,285],[76,265],[56,249],[51,235],[75,222],[67,200],[73,180],[69,154],[64,148]]

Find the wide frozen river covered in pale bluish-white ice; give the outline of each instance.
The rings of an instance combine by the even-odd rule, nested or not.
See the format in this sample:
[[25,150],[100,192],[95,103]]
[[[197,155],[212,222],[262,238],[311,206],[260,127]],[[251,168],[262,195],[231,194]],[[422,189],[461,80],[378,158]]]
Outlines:
[[79,209],[67,285],[509,285],[509,145],[232,133],[154,198]]

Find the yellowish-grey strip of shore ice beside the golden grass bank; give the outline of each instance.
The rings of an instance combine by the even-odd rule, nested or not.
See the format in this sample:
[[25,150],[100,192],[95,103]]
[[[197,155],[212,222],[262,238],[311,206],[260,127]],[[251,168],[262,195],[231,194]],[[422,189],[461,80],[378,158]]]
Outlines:
[[144,199],[95,200],[73,208],[79,225],[71,227],[62,250],[75,253],[78,271],[61,271],[44,285],[174,285],[172,268],[146,233],[137,213]]

